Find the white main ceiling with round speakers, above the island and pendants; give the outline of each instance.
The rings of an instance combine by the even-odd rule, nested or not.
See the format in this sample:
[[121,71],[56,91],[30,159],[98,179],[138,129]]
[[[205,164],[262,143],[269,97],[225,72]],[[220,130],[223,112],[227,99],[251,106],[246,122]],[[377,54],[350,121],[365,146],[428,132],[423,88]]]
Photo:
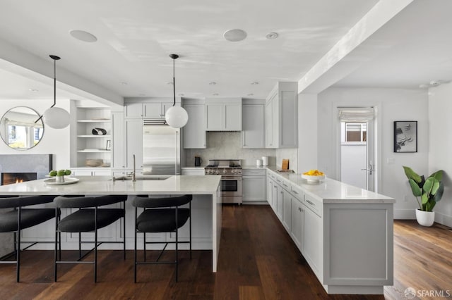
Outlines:
[[[1,0],[0,42],[31,54],[20,61],[25,68],[44,60],[49,72],[18,82],[7,66],[13,54],[0,49],[0,98],[52,96],[49,54],[61,56],[57,78],[68,70],[121,97],[172,96],[172,53],[180,56],[177,94],[265,98],[278,80],[299,80],[376,2]],[[227,42],[222,34],[233,28],[246,39]],[[70,30],[98,40],[81,42]],[[268,32],[279,38],[266,39]]]

